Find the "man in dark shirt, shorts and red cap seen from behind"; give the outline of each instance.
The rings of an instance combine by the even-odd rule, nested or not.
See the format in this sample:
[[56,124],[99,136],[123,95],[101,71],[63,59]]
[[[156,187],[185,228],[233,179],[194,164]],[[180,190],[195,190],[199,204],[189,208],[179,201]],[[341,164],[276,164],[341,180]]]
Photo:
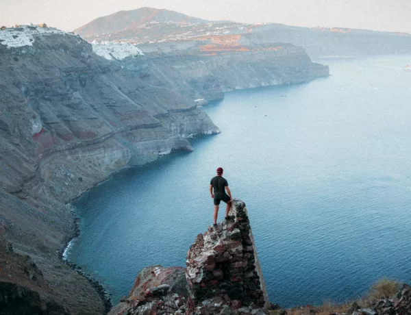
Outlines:
[[[227,179],[223,177],[223,171],[222,167],[217,168],[217,176],[213,177],[210,181],[210,194],[211,198],[214,199],[214,227],[217,225],[220,201],[227,203],[227,207],[225,207],[225,219],[228,218],[228,212],[232,201],[231,191],[228,188]],[[225,193],[226,190],[227,193]]]

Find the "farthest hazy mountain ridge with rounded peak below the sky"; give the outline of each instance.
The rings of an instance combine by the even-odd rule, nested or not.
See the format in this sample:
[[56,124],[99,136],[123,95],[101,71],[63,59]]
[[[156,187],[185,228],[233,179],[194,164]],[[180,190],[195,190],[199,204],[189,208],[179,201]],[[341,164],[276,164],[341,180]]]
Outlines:
[[[138,13],[140,15],[138,18],[133,18],[129,12],[140,12]],[[161,14],[159,15],[158,12]],[[173,16],[173,19],[158,18],[162,14]],[[144,53],[175,51],[176,46],[201,45],[200,42],[205,40],[221,41],[224,36],[238,36],[240,45],[290,43],[306,49],[310,57],[407,54],[411,50],[411,35],[401,32],[201,19],[201,23],[198,23],[197,18],[185,14],[147,7],[117,12],[110,16],[103,17],[99,22],[91,21],[76,29],[75,33],[88,42],[110,41],[145,45],[146,47],[139,46]],[[114,21],[113,18],[116,20]],[[207,23],[203,23],[204,21]]]

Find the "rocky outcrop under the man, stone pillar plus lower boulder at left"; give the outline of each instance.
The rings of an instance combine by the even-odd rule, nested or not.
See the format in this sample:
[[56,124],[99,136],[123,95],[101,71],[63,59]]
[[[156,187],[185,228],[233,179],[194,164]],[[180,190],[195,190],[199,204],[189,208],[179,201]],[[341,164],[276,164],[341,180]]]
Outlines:
[[185,270],[144,268],[110,314],[266,314],[271,304],[245,203],[235,199],[229,215],[197,236]]

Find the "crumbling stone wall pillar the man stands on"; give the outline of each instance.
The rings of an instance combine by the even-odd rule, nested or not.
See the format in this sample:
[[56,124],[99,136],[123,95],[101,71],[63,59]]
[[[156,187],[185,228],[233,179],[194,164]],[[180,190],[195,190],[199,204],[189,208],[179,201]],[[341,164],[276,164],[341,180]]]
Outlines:
[[234,199],[229,219],[197,236],[186,260],[188,310],[204,301],[268,307],[264,278],[245,203]]

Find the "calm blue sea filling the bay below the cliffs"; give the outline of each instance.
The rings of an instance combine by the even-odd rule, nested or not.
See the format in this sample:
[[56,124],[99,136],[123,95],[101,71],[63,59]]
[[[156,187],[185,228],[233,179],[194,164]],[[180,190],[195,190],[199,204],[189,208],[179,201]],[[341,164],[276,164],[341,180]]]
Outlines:
[[411,283],[411,55],[319,62],[330,77],[228,93],[203,108],[221,134],[77,199],[69,260],[114,304],[141,268],[185,266],[212,224],[208,186],[222,166],[273,303],[356,299],[382,277]]

